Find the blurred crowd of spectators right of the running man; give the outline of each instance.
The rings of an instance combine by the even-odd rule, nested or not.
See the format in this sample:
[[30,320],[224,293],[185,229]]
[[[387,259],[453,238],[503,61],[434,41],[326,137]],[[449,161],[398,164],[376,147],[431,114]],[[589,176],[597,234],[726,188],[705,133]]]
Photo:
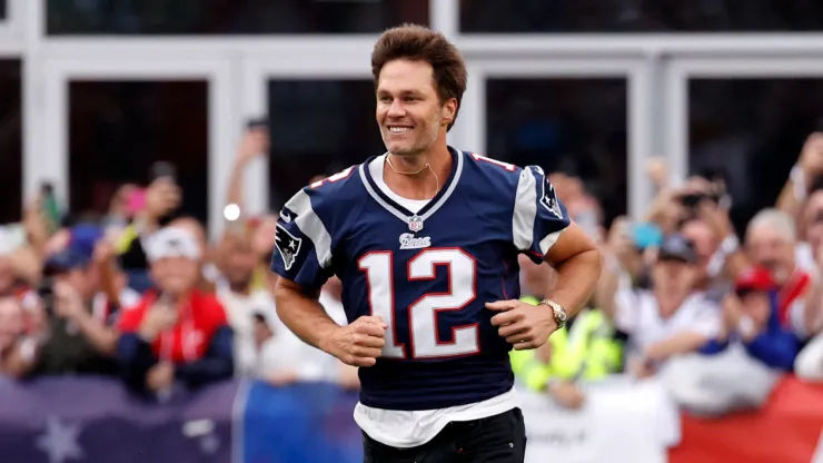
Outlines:
[[[554,175],[606,265],[589,308],[545,347],[513,354],[516,374],[568,407],[608,375],[656,377],[707,416],[756,410],[785,374],[822,381],[823,134],[809,136],[773,207],[740,237],[722,176],[673,185],[660,159],[647,175],[656,197],[645,217],[608,227],[578,179]],[[539,301],[551,269],[522,264],[526,297]]]

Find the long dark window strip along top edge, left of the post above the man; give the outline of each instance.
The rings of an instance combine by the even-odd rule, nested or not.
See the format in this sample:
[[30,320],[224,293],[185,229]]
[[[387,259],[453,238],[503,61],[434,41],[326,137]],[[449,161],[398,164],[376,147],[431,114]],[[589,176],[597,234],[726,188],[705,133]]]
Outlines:
[[49,0],[49,35],[373,33],[428,24],[428,0]]

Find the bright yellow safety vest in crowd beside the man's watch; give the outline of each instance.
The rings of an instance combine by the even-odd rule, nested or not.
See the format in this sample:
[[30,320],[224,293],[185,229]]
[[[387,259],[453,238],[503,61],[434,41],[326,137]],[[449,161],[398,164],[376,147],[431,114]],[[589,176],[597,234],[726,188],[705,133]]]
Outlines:
[[[537,304],[534,297],[520,301]],[[512,370],[528,388],[543,391],[549,380],[597,381],[622,366],[623,346],[614,339],[614,328],[598,309],[584,309],[575,317],[572,328],[563,327],[548,342],[548,363],[535,356],[535,351],[512,351]]]

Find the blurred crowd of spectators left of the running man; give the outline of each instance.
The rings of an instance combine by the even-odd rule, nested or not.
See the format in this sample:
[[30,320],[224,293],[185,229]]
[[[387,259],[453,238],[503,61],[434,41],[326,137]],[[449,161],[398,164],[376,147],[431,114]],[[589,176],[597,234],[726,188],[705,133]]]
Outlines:
[[[268,142],[264,128],[245,134],[227,205],[242,209],[242,174]],[[354,367],[277,317],[276,215],[240,214],[211,243],[180,210],[173,166],[152,171],[145,187],[123,185],[103,216],[67,219],[44,189],[20,224],[0,227],[0,375],[119,377],[160,401],[236,376],[357,387]],[[321,301],[345,323],[339,280]]]

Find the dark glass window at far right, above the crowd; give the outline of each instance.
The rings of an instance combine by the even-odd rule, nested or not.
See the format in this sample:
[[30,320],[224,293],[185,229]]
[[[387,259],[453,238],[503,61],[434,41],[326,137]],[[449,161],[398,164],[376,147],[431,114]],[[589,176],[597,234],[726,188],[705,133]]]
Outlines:
[[823,130],[823,79],[692,79],[692,174],[725,175],[733,219],[775,204],[810,132]]

